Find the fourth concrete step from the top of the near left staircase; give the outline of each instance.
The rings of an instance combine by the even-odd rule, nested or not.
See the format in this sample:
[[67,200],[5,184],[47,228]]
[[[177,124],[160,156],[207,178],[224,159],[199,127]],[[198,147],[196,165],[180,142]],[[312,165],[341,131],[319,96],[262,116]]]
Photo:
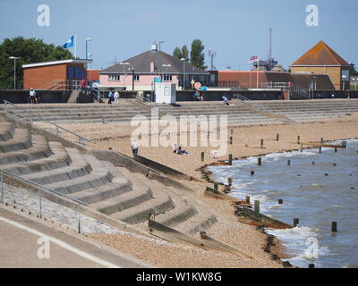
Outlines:
[[72,163],[71,157],[67,154],[61,143],[50,141],[48,144],[53,153],[51,156],[36,161],[3,165],[3,169],[18,175],[24,175],[32,172],[45,172],[58,169]]

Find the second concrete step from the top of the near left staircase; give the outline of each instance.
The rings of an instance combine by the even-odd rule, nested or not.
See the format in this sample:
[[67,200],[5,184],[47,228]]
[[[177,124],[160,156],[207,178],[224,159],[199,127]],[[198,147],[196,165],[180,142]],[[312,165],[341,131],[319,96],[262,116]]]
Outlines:
[[6,141],[0,141],[0,153],[7,153],[28,149],[32,145],[31,134],[27,129],[15,129],[13,138]]

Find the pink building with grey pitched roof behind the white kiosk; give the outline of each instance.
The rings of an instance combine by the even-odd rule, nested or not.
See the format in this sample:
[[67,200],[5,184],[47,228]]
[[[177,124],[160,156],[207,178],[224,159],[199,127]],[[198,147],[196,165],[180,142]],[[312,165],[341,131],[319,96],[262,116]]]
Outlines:
[[156,44],[141,55],[99,71],[101,88],[151,90],[155,79],[175,83],[177,89],[182,89],[183,85],[189,87],[192,80],[207,84],[209,72],[158,51]]

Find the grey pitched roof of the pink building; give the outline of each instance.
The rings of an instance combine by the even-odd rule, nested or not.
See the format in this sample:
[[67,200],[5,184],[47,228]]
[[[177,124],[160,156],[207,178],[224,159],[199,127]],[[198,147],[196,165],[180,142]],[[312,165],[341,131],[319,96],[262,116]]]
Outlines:
[[[123,63],[130,63],[128,67],[132,69],[134,67],[135,73],[153,73],[150,71],[150,63],[155,63],[155,73],[168,72],[169,74],[183,73],[183,62],[178,60],[172,55],[168,55],[162,51],[149,50],[140,55],[133,56]],[[162,64],[170,64],[169,67],[163,67]],[[128,69],[126,69],[128,70]],[[117,63],[100,71],[99,73],[123,73],[124,65]],[[125,71],[127,73],[128,71]],[[209,71],[201,70],[190,63],[185,62],[185,74],[200,74],[208,75]]]

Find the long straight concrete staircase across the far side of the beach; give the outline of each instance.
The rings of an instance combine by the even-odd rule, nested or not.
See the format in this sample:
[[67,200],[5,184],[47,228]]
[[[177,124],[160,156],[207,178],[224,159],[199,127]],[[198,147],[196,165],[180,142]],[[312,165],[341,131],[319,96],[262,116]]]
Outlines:
[[[158,108],[159,116],[163,114],[181,115],[227,115],[229,124],[255,125],[282,123],[282,116],[294,122],[316,122],[327,118],[343,116],[358,112],[358,99],[320,99],[320,100],[268,100],[250,101],[260,105],[267,114],[262,114],[252,106],[234,103],[224,105],[222,102],[178,102],[177,105],[156,103],[138,104],[136,99],[121,99],[119,105],[107,104],[43,104],[19,105],[38,116],[55,123],[96,123],[96,122],[131,122],[135,115],[143,115],[150,119],[151,110]],[[146,105],[146,107],[142,106]],[[12,106],[8,112],[28,118],[25,111],[19,111]],[[22,116],[22,117],[21,117]],[[34,117],[34,122],[39,119]],[[136,119],[140,120],[140,119]],[[290,123],[290,122],[288,122]]]

